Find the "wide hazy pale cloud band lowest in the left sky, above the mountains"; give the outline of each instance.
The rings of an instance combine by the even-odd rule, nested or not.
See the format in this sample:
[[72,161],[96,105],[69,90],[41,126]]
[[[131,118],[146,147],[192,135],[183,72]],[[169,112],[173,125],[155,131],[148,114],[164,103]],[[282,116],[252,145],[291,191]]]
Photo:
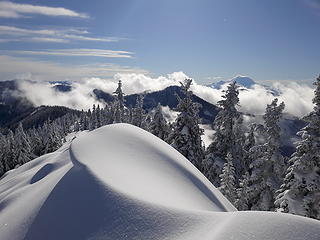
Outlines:
[[0,55],[0,81],[16,79],[21,75],[30,74],[32,80],[57,81],[77,80],[85,77],[112,78],[117,73],[148,73],[148,71],[130,66],[115,64],[61,64],[33,58]]

